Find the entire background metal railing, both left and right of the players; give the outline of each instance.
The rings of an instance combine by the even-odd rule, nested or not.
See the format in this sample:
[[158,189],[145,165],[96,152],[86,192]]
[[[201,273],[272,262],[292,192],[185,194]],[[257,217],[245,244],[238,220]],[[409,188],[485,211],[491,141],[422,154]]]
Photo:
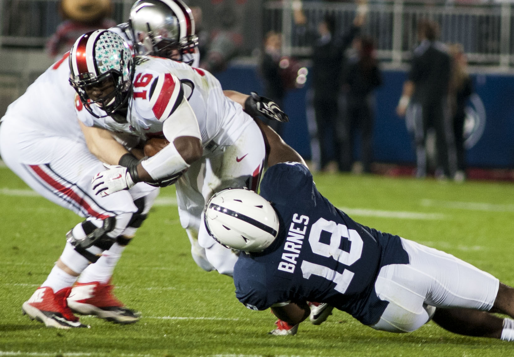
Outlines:
[[[282,32],[285,54],[310,54],[311,47],[305,31],[300,31],[293,22],[291,0],[252,1],[262,1],[263,34],[268,30]],[[61,22],[58,2],[1,0],[0,51],[5,48],[42,48]],[[126,21],[133,3],[134,0],[113,0],[114,20]],[[460,5],[449,1],[428,3],[370,0],[363,32],[376,40],[377,53],[382,61],[401,65],[409,60],[417,43],[416,23],[419,18],[428,17],[439,23],[444,42],[464,46],[471,64],[499,70],[514,66],[514,5]],[[303,11],[307,28],[315,31],[328,12],[336,18],[337,32],[343,33],[352,23],[355,4],[353,1],[304,1]],[[259,48],[260,43],[254,46]]]

